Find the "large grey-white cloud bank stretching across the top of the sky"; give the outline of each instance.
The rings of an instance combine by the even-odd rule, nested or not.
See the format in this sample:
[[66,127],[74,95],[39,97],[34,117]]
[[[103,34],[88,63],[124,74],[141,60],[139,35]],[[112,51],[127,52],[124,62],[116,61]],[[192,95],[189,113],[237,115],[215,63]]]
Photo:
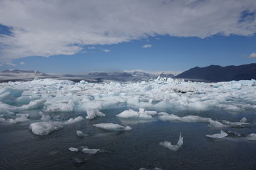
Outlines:
[[0,37],[0,62],[73,55],[83,45],[149,35],[253,35],[255,11],[255,0],[1,0],[0,23],[12,27],[12,35]]

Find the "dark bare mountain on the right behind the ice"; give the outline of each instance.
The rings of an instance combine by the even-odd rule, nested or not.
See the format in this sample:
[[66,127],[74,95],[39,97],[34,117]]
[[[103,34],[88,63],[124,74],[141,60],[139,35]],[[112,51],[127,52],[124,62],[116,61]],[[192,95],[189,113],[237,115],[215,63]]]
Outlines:
[[178,74],[175,78],[201,79],[206,81],[232,81],[256,79],[256,63],[240,66],[221,67],[210,65],[208,67],[194,67]]

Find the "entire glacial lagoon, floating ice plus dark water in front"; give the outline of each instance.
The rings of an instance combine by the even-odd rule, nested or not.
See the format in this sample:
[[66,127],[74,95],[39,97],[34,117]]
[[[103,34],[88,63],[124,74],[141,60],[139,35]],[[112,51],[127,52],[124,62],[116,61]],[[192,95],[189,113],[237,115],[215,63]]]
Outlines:
[[256,169],[256,81],[0,84],[1,169]]

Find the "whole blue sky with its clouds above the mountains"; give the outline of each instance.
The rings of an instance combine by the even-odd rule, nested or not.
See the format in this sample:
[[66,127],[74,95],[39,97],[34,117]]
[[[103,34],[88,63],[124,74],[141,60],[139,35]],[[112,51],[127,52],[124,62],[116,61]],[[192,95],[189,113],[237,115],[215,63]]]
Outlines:
[[255,0],[0,0],[0,71],[249,64],[255,33]]

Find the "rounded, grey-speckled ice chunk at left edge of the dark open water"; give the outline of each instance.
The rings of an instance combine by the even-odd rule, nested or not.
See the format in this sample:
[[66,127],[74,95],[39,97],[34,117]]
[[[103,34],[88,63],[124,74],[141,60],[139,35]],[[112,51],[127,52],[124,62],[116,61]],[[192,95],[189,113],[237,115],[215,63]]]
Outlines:
[[63,128],[63,123],[60,122],[38,122],[32,123],[29,128],[35,135],[48,135],[50,132]]

